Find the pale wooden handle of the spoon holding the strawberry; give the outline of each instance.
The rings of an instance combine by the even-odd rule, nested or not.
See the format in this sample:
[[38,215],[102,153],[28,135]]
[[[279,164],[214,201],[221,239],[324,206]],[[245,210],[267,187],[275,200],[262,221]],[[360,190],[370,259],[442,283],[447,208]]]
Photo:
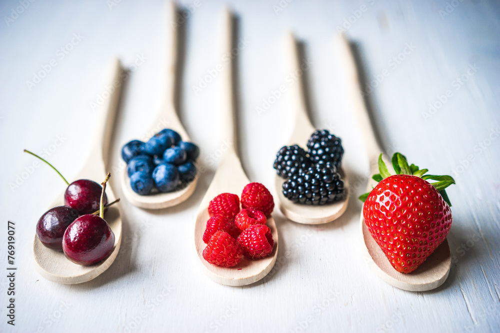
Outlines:
[[[347,98],[352,101],[352,107],[356,113],[357,122],[361,128],[361,133],[364,139],[366,152],[370,161],[370,171],[378,173],[377,161],[381,149],[378,146],[373,127],[361,95],[361,85],[359,84],[359,76],[357,74],[354,55],[350,48],[347,38],[342,34],[338,38],[337,49],[341,58],[341,64],[345,71],[344,79],[347,90]],[[375,171],[375,172],[373,172]]]

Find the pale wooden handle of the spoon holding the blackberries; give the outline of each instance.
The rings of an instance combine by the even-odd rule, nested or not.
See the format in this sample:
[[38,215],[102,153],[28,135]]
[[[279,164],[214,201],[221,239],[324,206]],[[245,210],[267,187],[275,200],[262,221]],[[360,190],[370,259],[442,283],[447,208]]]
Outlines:
[[304,70],[306,68],[300,62],[297,41],[291,32],[288,32],[286,42],[289,54],[289,75],[291,75],[294,79],[291,90],[293,103],[292,108],[294,109],[294,124],[289,143],[303,146],[314,131],[314,127],[307,116],[307,107],[305,103],[305,90],[302,75],[304,75]]

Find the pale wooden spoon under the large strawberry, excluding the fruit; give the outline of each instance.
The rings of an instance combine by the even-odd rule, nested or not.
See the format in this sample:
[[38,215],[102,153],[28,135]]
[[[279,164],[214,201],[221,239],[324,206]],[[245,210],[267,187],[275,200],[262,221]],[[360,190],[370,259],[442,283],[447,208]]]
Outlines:
[[[337,40],[337,47],[341,56],[342,67],[345,69],[343,82],[347,86],[348,98],[353,102],[353,108],[357,116],[361,132],[363,133],[366,151],[370,162],[370,175],[378,173],[378,156],[381,149],[377,144],[373,128],[370,123],[368,112],[361,96],[361,89],[357,75],[354,58],[345,36]],[[390,168],[391,163],[384,159]],[[392,174],[395,174],[392,170]],[[373,179],[368,181],[366,191],[369,192],[376,186]],[[403,290],[412,292],[427,291],[439,287],[448,277],[451,265],[451,255],[448,241],[444,240],[434,252],[414,272],[409,274],[397,272],[389,263],[387,257],[371,237],[364,223],[361,211],[361,236],[363,242],[363,256],[368,266],[386,283]]]

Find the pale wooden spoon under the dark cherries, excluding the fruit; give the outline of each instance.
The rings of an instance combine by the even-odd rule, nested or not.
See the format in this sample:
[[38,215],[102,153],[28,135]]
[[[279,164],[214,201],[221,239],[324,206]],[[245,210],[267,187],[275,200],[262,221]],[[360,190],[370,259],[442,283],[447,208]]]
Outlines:
[[[109,80],[106,86],[114,86],[115,89],[105,100],[101,119],[95,126],[97,127],[96,140],[91,149],[90,156],[84,163],[82,170],[75,179],[90,179],[97,183],[104,180],[107,174],[106,161],[109,155],[109,143],[114,125],[116,110],[123,85],[123,69],[118,59],[113,59],[110,66]],[[65,189],[64,189],[65,191]],[[64,191],[57,196],[57,199],[49,208],[64,205]],[[108,202],[115,200],[110,184],[106,188]],[[103,261],[91,265],[80,266],[73,264],[64,257],[64,253],[46,248],[34,237],[33,256],[38,273],[45,279],[65,285],[78,284],[90,281],[104,272],[113,263],[121,244],[121,217],[119,203],[107,208],[104,219],[114,233],[113,251]]]

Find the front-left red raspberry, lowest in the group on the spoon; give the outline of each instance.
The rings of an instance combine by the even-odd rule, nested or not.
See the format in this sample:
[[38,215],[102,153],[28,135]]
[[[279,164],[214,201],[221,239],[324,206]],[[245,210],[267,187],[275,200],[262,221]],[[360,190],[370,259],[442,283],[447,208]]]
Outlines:
[[203,258],[210,264],[221,267],[233,267],[241,262],[243,249],[241,245],[225,231],[213,234],[203,250]]

